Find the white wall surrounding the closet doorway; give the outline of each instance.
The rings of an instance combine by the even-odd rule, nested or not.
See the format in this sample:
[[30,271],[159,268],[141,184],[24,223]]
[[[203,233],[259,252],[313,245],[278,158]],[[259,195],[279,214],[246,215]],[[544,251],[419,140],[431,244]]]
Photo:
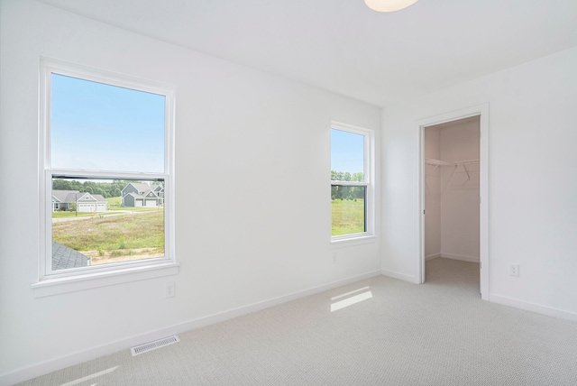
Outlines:
[[576,68],[572,48],[384,110],[383,273],[419,279],[417,121],[489,103],[490,300],[577,320]]

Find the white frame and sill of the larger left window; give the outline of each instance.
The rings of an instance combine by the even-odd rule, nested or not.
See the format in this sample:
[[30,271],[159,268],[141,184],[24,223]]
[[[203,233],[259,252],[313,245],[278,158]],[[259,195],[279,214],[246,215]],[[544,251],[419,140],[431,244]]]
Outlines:
[[[120,282],[150,279],[178,273],[174,246],[174,89],[165,84],[132,78],[60,60],[41,58],[40,73],[40,251],[38,282],[32,284],[37,297]],[[125,87],[165,97],[164,172],[116,172],[103,170],[53,169],[50,165],[50,87],[51,74],[81,78]],[[164,180],[164,256],[132,262],[53,271],[52,259],[52,178],[79,179],[163,179]]]

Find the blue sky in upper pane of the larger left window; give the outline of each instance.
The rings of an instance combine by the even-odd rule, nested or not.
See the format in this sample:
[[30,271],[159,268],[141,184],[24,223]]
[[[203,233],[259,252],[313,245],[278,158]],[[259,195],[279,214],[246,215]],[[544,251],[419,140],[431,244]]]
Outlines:
[[164,172],[165,97],[51,74],[51,167]]

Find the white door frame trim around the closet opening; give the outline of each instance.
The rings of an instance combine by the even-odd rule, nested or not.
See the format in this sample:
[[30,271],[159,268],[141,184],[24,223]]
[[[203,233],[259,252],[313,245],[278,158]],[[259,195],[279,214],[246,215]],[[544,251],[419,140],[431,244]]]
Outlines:
[[420,283],[425,282],[425,128],[435,124],[458,121],[471,116],[480,117],[480,282],[481,299],[489,300],[489,104],[471,106],[441,115],[431,116],[417,121],[419,138],[418,160],[418,219],[419,255],[417,256],[417,272]]

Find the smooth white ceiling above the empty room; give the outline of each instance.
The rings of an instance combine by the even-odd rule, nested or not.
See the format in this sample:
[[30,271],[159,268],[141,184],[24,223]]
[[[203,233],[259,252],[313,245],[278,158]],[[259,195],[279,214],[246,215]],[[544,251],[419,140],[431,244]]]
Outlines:
[[577,0],[39,0],[378,106],[577,46]]

